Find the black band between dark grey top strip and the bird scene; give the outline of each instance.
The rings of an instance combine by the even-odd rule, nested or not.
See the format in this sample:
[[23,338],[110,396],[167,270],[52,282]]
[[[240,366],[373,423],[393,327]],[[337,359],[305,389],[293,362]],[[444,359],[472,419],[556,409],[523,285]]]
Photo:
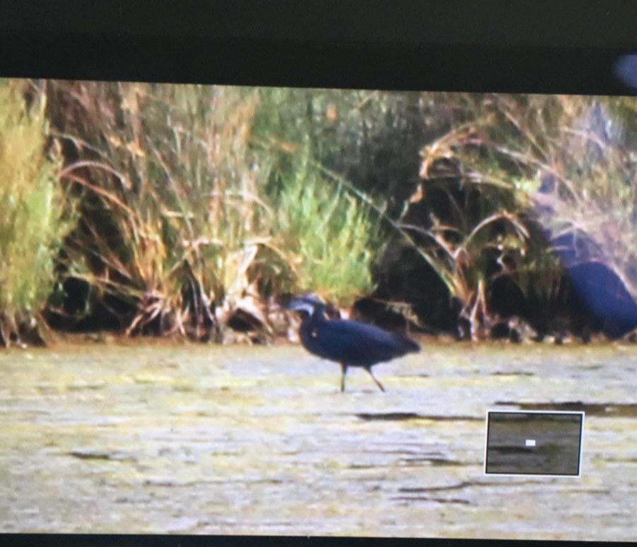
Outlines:
[[[637,4],[637,3],[636,3]],[[0,34],[0,76],[201,84],[632,94],[626,49]]]

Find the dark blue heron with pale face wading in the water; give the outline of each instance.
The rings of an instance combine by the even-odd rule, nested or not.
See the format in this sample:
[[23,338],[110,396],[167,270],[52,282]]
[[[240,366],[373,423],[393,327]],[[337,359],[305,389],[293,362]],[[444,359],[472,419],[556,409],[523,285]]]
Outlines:
[[364,368],[381,391],[385,388],[372,373],[372,366],[420,351],[413,340],[357,321],[328,320],[326,305],[314,295],[293,298],[289,310],[305,312],[301,323],[301,342],[311,354],[340,363],[340,390],[345,391],[348,367]]

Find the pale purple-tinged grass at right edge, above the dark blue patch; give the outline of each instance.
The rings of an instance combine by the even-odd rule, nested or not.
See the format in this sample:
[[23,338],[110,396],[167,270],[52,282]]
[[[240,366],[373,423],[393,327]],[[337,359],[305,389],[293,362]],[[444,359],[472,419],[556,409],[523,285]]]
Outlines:
[[[626,98],[500,96],[512,137],[490,143],[515,162],[520,199],[529,205],[566,265],[599,261],[637,298],[637,102]],[[578,252],[565,237],[577,239]]]

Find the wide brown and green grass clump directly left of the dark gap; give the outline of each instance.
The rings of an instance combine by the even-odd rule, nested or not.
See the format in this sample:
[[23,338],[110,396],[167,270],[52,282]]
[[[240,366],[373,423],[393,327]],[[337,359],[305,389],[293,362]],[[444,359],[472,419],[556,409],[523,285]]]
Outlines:
[[219,337],[238,309],[267,330],[265,297],[351,302],[371,285],[364,208],[309,167],[301,133],[261,123],[254,137],[258,113],[275,118],[260,90],[52,81],[50,94],[81,203],[63,276],[119,301],[126,332]]

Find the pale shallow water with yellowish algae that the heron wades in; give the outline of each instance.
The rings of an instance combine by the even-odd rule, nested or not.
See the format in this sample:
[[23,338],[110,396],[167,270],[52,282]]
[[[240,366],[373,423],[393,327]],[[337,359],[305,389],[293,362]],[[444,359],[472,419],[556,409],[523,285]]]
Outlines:
[[[0,353],[0,531],[637,538],[635,346]],[[488,408],[585,410],[581,478],[483,475]]]

